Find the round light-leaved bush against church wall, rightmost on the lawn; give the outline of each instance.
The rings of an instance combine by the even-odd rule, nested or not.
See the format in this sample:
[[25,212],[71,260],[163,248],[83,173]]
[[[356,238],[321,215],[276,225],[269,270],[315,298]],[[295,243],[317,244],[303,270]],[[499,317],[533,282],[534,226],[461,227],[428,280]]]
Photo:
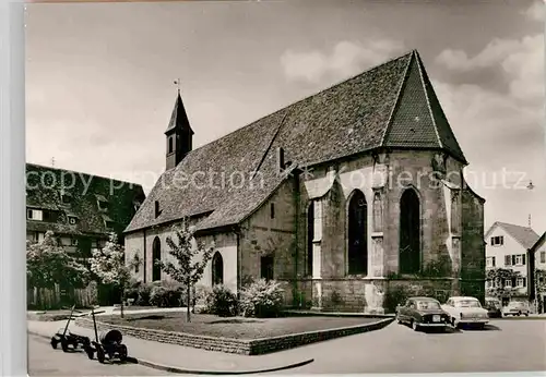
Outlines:
[[260,279],[242,289],[240,309],[245,317],[276,317],[284,301],[284,290],[274,280]]

